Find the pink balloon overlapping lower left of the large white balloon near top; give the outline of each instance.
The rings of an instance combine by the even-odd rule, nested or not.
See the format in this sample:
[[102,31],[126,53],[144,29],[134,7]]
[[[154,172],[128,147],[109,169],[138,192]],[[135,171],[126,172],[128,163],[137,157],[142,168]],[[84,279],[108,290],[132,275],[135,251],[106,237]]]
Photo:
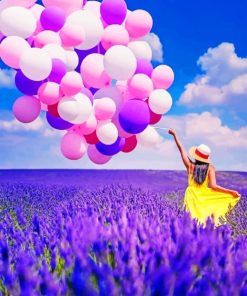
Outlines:
[[63,46],[77,46],[85,40],[85,31],[81,26],[72,23],[65,23],[62,30],[59,33]]

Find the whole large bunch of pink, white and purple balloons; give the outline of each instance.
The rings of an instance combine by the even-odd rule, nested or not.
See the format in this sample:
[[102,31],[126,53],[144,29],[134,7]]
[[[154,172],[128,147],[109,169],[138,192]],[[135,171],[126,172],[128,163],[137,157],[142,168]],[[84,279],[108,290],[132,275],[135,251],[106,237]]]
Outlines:
[[174,73],[153,68],[145,41],[153,20],[124,0],[4,0],[0,58],[16,70],[24,94],[13,106],[17,120],[48,124],[66,134],[63,155],[86,153],[96,164],[137,144],[153,146],[153,128],[172,106]]

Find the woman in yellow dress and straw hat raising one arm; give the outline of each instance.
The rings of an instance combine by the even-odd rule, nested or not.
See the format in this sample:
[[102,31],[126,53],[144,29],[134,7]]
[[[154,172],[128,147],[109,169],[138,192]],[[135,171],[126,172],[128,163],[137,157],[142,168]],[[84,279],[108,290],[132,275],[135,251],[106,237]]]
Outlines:
[[[229,208],[240,200],[237,191],[219,186],[216,183],[215,168],[210,164],[210,148],[204,144],[191,147],[189,154],[195,159],[192,162],[175,131],[169,129],[180,151],[183,163],[188,172],[188,187],[184,197],[184,208],[192,218],[205,225],[208,217],[213,215],[215,225],[220,225],[220,217],[225,218]],[[208,184],[210,188],[208,187]]]

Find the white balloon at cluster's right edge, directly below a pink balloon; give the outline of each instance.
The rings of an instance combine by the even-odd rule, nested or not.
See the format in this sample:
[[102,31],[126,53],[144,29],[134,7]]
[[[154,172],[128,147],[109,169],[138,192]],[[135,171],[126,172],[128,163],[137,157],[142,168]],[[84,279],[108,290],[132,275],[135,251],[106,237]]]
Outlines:
[[155,89],[149,96],[148,105],[154,113],[164,114],[172,107],[172,97],[164,89]]

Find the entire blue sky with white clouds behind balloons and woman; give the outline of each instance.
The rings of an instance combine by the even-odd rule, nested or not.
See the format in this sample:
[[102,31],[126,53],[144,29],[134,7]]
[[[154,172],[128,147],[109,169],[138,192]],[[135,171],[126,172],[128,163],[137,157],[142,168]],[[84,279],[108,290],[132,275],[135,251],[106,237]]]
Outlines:
[[[208,144],[216,168],[246,171],[246,1],[126,3],[130,10],[145,9],[152,15],[152,32],[162,44],[155,50],[163,53],[163,63],[175,72],[174,84],[169,89],[173,107],[161,124],[176,128],[186,148],[202,142]],[[96,168],[87,159],[63,159],[56,135],[43,136],[40,128],[30,131],[16,127],[13,132],[3,127],[1,120],[6,123],[13,119],[10,110],[19,93],[6,87],[6,83],[0,87],[0,168]],[[158,150],[118,156],[103,168],[181,169],[171,138],[163,137]],[[15,141],[20,143],[16,145]]]

